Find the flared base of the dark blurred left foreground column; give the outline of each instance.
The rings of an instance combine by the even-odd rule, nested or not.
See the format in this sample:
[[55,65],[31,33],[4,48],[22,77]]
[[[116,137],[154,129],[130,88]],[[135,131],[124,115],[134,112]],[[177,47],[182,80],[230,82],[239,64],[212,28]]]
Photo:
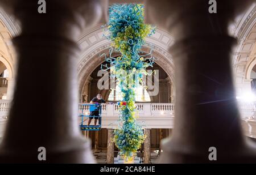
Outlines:
[[69,143],[59,147],[46,146],[46,160],[38,159],[42,151],[35,147],[24,150],[3,148],[0,152],[0,163],[96,163],[90,148],[90,140],[74,139]]

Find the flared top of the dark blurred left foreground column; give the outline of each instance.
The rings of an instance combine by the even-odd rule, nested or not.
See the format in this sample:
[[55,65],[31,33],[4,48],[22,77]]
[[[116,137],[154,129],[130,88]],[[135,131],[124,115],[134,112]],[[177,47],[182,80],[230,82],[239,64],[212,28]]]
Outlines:
[[[102,15],[103,0],[51,0],[46,2],[46,14],[38,12],[38,1],[1,1],[9,14],[21,23],[22,34],[32,37],[65,38],[77,41],[82,29],[96,24]],[[56,28],[61,26],[61,28]]]

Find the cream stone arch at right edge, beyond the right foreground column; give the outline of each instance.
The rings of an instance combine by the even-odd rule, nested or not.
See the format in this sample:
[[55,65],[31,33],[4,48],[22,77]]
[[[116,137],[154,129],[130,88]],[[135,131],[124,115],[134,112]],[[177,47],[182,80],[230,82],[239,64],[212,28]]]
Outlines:
[[255,63],[256,4],[252,5],[237,24],[234,36],[238,46],[233,56],[233,71],[237,93],[250,91],[250,72]]

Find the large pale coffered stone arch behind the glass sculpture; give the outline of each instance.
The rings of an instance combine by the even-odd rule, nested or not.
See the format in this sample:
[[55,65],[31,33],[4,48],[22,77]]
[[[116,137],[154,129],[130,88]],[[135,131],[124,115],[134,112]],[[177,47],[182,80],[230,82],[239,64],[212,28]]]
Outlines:
[[[150,48],[152,48],[154,57],[159,58],[155,62],[166,71],[171,82],[174,82],[174,63],[172,56],[168,53],[168,48],[173,42],[174,38],[169,33],[162,29],[156,29],[155,35],[147,37],[146,44],[142,47],[142,51],[146,53],[150,52]],[[77,71],[81,96],[86,79],[89,78],[95,67],[104,62],[104,57],[100,58],[100,55],[103,53],[108,55],[111,42],[103,37],[102,29],[96,27],[82,35],[79,44],[82,54]]]

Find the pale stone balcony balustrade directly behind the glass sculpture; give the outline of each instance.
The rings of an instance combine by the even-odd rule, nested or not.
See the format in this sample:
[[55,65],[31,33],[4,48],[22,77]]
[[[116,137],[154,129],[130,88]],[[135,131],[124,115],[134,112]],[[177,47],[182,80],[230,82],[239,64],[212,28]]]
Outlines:
[[[144,128],[174,127],[174,104],[171,103],[137,103],[138,122]],[[89,106],[79,104],[79,113],[89,114]],[[118,105],[102,104],[102,128],[114,128],[118,123]],[[81,122],[81,118],[79,119]],[[86,123],[87,121],[85,121]]]

